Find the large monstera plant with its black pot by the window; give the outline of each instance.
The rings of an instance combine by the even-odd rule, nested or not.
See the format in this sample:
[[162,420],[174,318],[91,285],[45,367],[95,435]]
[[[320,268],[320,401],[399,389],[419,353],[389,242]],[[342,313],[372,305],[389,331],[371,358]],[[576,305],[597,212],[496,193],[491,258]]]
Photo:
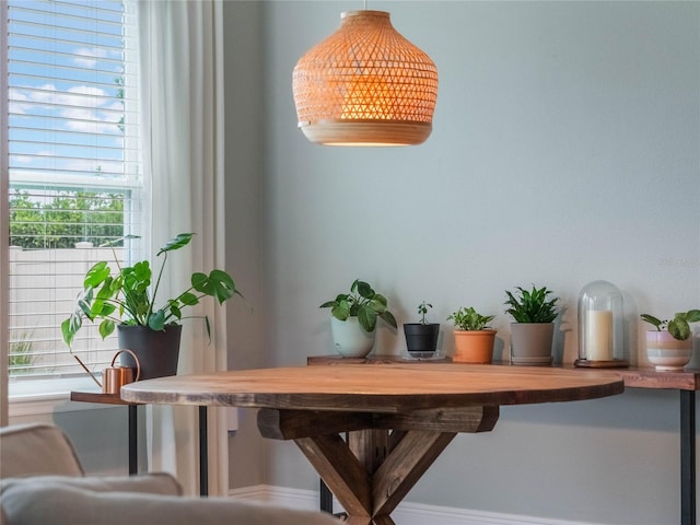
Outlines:
[[[179,322],[196,316],[184,316],[183,311],[199,304],[205,296],[214,298],[219,304],[241,295],[235,282],[223,270],[211,270],[209,275],[195,272],[190,285],[174,299],[158,303],[158,291],[171,252],[189,244],[194,233],[180,233],[171,238],[156,254],[162,256],[155,283],[148,260],[122,267],[116,258],[116,269],[107,261],[100,261],[88,270],[84,290],[78,296],[75,310],[61,324],[63,340],[70,347],[83,319],[100,322],[100,335],[104,339],[115,328],[120,349],[133,351],[141,368],[141,378],[175,375],[179,354],[182,326]],[[107,246],[126,240],[119,238]],[[205,316],[207,334],[210,334],[209,319]],[[133,359],[124,352],[121,364],[136,368]],[[80,360],[79,360],[80,361]]]

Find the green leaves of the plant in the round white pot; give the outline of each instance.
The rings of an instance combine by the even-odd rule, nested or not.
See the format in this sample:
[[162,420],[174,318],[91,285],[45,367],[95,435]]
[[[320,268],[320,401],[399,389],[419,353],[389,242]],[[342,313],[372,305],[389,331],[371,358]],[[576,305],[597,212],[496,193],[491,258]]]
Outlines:
[[365,281],[357,279],[350,287],[350,293],[340,293],[334,301],[327,301],[322,308],[330,308],[330,315],[340,320],[358,317],[365,331],[376,327],[377,317],[396,328],[396,318],[388,308],[387,299],[376,293]]

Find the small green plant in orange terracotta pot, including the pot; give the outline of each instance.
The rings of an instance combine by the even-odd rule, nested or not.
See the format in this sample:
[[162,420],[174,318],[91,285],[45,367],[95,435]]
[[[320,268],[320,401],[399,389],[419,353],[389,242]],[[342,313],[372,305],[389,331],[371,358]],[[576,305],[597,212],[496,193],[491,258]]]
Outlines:
[[474,307],[460,307],[447,316],[455,325],[454,362],[490,363],[493,360],[495,330],[489,327],[494,315],[481,315]]

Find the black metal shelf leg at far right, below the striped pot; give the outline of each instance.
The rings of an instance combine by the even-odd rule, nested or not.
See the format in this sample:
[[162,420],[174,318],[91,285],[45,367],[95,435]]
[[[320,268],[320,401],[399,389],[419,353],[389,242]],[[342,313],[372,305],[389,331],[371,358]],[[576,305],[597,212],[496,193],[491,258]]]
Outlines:
[[680,523],[696,525],[695,390],[680,390]]

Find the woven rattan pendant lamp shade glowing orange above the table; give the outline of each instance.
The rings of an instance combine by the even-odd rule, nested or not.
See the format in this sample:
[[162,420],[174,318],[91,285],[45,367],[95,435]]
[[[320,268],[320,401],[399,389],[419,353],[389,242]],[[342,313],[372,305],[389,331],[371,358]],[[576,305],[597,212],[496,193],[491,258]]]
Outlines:
[[411,145],[432,131],[438,69],[384,11],[347,11],[304,55],[292,88],[299,127],[329,145]]

